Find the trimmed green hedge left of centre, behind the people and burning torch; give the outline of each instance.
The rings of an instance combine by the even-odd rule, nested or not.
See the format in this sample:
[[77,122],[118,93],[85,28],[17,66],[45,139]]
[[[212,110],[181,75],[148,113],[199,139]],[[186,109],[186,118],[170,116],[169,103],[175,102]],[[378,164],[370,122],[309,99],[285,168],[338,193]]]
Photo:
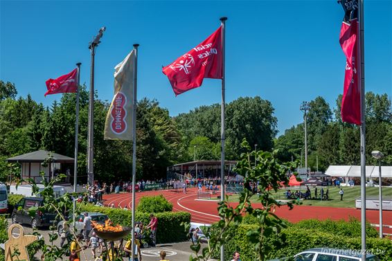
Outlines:
[[[93,206],[90,204],[81,204],[81,211],[99,212],[106,214],[114,224],[121,224],[121,226],[132,226],[132,212],[130,210],[123,210],[119,208],[107,208],[100,206]],[[184,226],[180,226],[181,222],[190,222],[190,213],[186,212],[165,212],[156,213],[158,218],[157,243],[172,243],[182,242],[187,240],[187,233]],[[135,212],[135,221],[143,222],[147,225],[150,222],[149,213]],[[147,231],[148,235],[150,231]],[[147,238],[149,238],[147,236]]]

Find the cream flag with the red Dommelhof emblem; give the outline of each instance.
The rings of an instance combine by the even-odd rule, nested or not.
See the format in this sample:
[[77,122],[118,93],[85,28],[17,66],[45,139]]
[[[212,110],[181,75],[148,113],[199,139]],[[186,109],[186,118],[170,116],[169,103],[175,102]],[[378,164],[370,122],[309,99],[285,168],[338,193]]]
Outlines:
[[132,140],[134,50],[114,67],[114,97],[105,121],[105,140]]

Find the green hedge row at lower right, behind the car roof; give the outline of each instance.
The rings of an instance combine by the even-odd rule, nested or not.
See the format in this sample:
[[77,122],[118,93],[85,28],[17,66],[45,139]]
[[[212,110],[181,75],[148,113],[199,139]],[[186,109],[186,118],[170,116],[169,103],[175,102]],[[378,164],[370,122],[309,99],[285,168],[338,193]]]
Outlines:
[[[269,237],[266,244],[271,247],[271,252],[267,256],[267,260],[292,256],[306,249],[316,247],[353,250],[361,249],[360,235],[346,236],[343,231],[339,234],[335,233],[336,231],[331,231],[331,233],[325,232],[321,225],[317,225],[317,227],[309,229],[304,228],[305,225],[312,224],[312,222],[306,221],[300,222],[303,224],[291,224],[289,228],[283,229],[280,235]],[[321,224],[322,223],[323,222],[321,222]],[[335,226],[341,226],[342,229],[350,228],[350,226],[356,226],[355,222],[346,225],[342,225],[341,222],[335,223],[337,223]],[[247,240],[247,232],[254,228],[256,228],[256,226],[251,224],[241,224],[240,226],[231,226],[229,228],[229,236],[226,237],[224,245],[227,260],[231,259],[234,251],[240,252],[242,261],[256,260],[256,255],[253,253],[252,247],[249,245]],[[380,239],[378,237],[367,237],[366,249],[377,255],[380,261],[392,260],[392,242],[388,238]],[[213,253],[213,258],[220,258],[219,251]]]

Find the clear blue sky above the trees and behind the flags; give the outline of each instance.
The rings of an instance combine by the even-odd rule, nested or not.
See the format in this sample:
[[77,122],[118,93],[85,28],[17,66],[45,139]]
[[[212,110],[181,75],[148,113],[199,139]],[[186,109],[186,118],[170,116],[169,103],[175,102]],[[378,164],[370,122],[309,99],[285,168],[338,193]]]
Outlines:
[[[366,91],[391,97],[392,1],[365,1]],[[226,102],[240,96],[271,101],[280,134],[302,122],[303,100],[343,92],[346,58],[339,46],[344,16],[328,1],[0,1],[0,79],[19,96],[51,105],[48,78],[82,62],[89,86],[88,44],[107,30],[96,53],[95,87],[112,100],[114,66],[139,43],[138,98],[157,99],[171,116],[220,102],[220,80],[175,97],[161,72],[226,22]]]

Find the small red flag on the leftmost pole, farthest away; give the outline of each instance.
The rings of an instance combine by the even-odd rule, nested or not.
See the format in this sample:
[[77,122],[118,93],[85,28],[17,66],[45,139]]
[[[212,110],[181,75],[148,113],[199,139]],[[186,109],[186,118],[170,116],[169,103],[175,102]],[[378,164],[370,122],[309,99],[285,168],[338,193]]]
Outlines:
[[75,93],[78,90],[78,69],[71,71],[66,75],[62,75],[57,79],[49,79],[46,81],[46,91],[45,96],[48,94],[55,93]]

